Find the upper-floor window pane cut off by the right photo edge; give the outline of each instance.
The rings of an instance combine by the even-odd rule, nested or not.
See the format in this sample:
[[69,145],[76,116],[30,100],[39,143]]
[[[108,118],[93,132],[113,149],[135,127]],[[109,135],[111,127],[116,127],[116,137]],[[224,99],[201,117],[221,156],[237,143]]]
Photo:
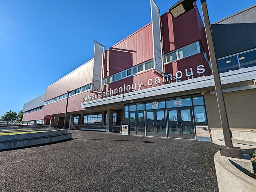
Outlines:
[[256,66],[256,50],[238,55],[241,68]]

